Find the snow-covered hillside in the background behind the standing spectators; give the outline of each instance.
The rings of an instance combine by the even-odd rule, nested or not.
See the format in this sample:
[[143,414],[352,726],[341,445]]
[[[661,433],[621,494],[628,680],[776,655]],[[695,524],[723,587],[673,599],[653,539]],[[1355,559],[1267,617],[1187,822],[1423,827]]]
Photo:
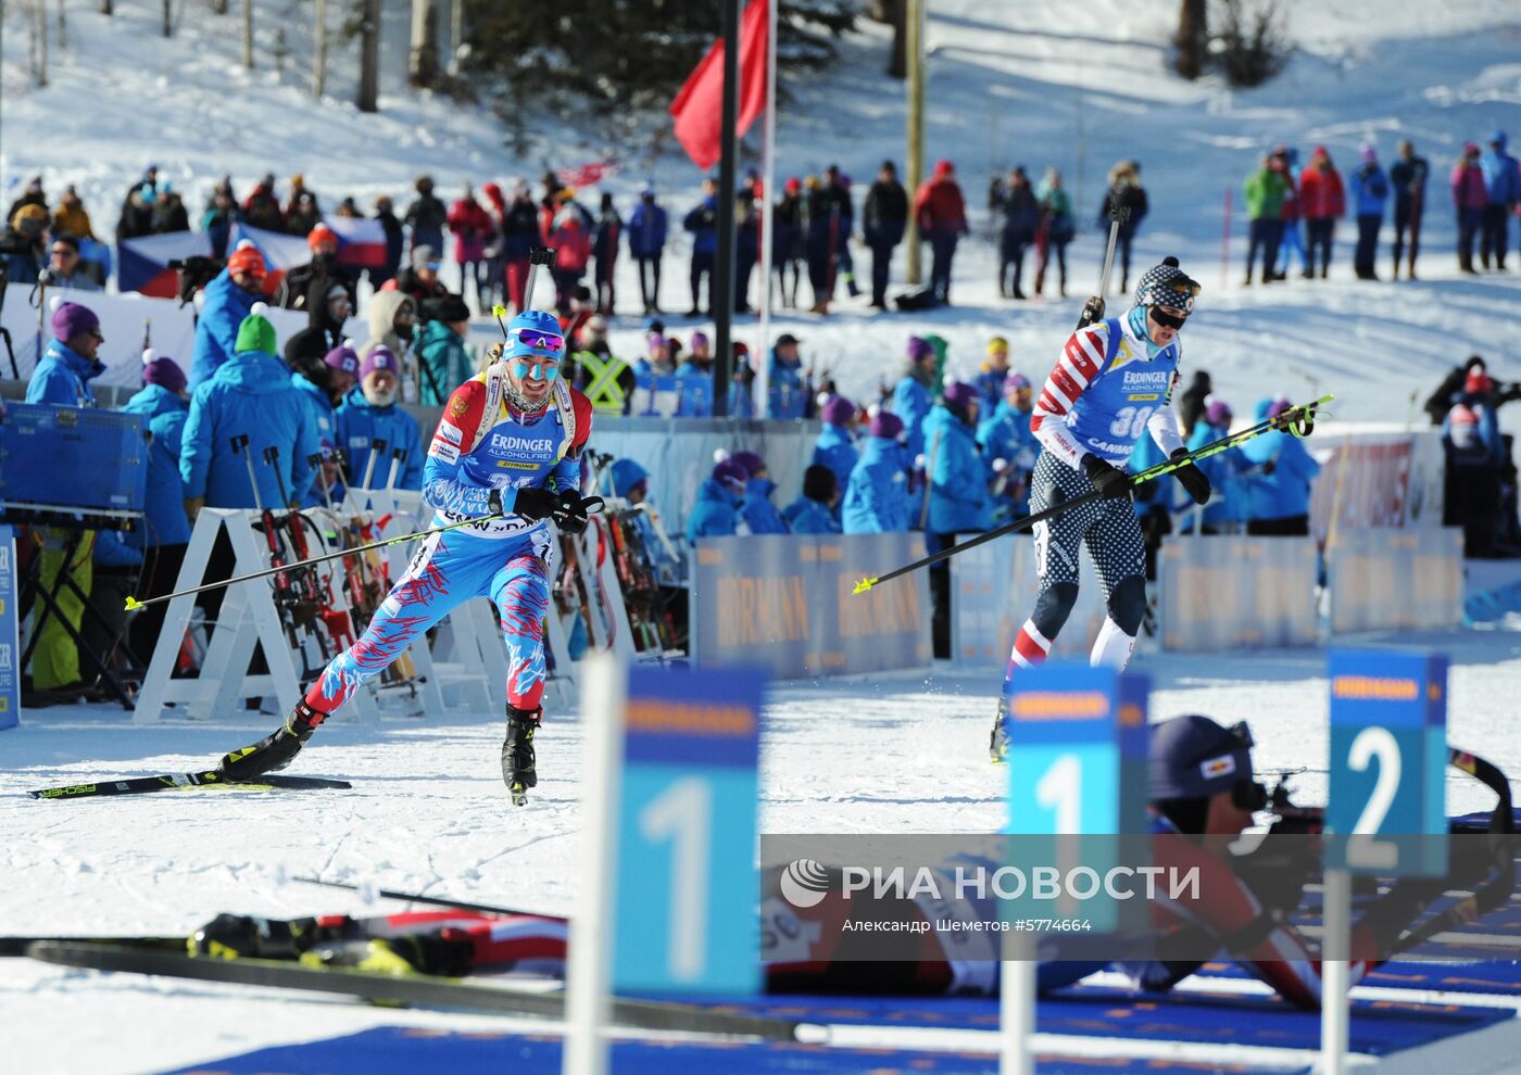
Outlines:
[[[152,160],[186,192],[193,211],[210,186],[230,172],[240,192],[265,170],[284,187],[303,172],[332,205],[353,195],[362,205],[389,193],[405,205],[408,186],[427,170],[449,198],[465,179],[537,176],[546,164],[575,164],[618,154],[625,170],[608,182],[621,207],[654,179],[672,210],[694,198],[697,170],[680,154],[651,161],[646,146],[601,146],[573,120],[535,116],[538,137],[525,157],[505,147],[500,122],[402,85],[406,21],[389,6],[382,111],[362,116],[350,103],[351,46],[335,46],[330,97],[313,102],[306,65],[306,27],[289,35],[284,79],[274,71],[274,18],[256,23],[257,70],[239,65],[234,17],[202,8],[181,14],[175,38],[155,36],[154,5],[119,5],[114,18],[71,11],[68,50],[52,52],[52,87],[26,84],[26,32],[15,5],[6,8],[0,128],[0,176],[8,184],[41,172],[49,190],[75,182],[96,217],[114,227],[122,192]],[[957,161],[973,208],[973,242],[957,260],[955,306],[929,315],[868,316],[865,298],[838,304],[827,321],[785,318],[805,339],[805,354],[827,366],[852,395],[896,376],[910,331],[938,331],[951,344],[954,373],[970,373],[986,339],[1002,333],[1016,365],[1043,374],[1077,307],[1097,284],[1103,236],[1092,224],[1109,166],[1144,166],[1151,214],[1136,242],[1136,260],[1151,265],[1179,254],[1208,290],[1185,333],[1185,363],[1208,368],[1237,412],[1270,392],[1303,395],[1310,382],[1338,395],[1338,414],[1404,421],[1411,391],[1428,391],[1471,351],[1497,353],[1492,319],[1521,315],[1521,274],[1459,280],[1448,211],[1446,173],[1459,146],[1495,126],[1516,126],[1521,102],[1521,15],[1503,0],[1440,6],[1299,3],[1288,33],[1299,49],[1267,87],[1232,91],[1215,78],[1188,84],[1167,67],[1171,0],[1086,5],[986,5],[932,0],[928,49],[931,160]],[[838,163],[864,198],[884,157],[902,163],[903,93],[881,75],[884,27],[862,21],[843,43],[841,64],[818,81],[792,82],[792,103],[779,116],[779,176]],[[1354,281],[1351,224],[1338,228],[1332,278],[1291,280],[1241,289],[1244,255],[1240,184],[1267,146],[1284,141],[1307,154],[1326,144],[1346,172],[1364,140],[1383,158],[1398,137],[1411,137],[1433,166],[1421,283]],[[757,132],[751,132],[753,149]],[[1024,163],[1033,173],[1056,164],[1072,192],[1084,231],[1069,255],[1068,301],[1008,303],[996,298],[996,260],[984,192],[987,179]],[[14,187],[12,187],[14,190]],[[1230,262],[1221,266],[1223,204],[1234,196]],[[1515,225],[1512,225],[1515,227]],[[677,230],[680,231],[680,230]],[[1387,274],[1386,227],[1380,272]],[[666,260],[663,306],[687,306],[684,236]],[[858,274],[870,254],[856,251]],[[621,265],[625,312],[637,296],[631,265]],[[928,268],[928,257],[926,257]],[[894,280],[902,280],[899,251]],[[1132,286],[1135,280],[1132,274]],[[894,290],[900,290],[894,284]],[[803,295],[806,298],[806,283]],[[614,341],[633,354],[642,318],[614,324]],[[695,325],[672,319],[678,335]],[[741,335],[754,341],[754,327]],[[1501,377],[1521,376],[1500,362]]]

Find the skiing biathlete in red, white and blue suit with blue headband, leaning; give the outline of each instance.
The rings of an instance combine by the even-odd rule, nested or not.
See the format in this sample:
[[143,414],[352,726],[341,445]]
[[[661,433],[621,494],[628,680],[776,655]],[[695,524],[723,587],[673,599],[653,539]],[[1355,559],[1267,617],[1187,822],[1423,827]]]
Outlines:
[[221,768],[248,780],[289,765],[312,731],[462,601],[490,598],[506,640],[506,739],[502,779],[522,803],[535,786],[534,731],[543,719],[545,557],[549,522],[581,532],[598,497],[581,496],[581,450],[592,404],[560,380],[564,336],[552,313],[528,310],[508,325],[505,357],[455,389],[427,462],[423,500],[433,526],[493,518],[426,538],[370,628],[339,654],[274,734],[233,751]]

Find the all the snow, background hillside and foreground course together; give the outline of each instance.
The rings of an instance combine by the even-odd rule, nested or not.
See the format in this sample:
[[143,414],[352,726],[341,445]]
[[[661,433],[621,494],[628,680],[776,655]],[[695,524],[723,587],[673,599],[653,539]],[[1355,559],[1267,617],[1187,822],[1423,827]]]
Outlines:
[[[266,169],[281,186],[300,170],[327,204],[348,193],[362,204],[389,193],[405,205],[411,178],[424,169],[449,196],[465,179],[537,175],[546,161],[602,155],[595,132],[573,122],[529,117],[529,144],[519,154],[505,147],[497,120],[441,97],[403,94],[395,71],[405,8],[386,5],[391,73],[382,113],[360,116],[345,103],[351,79],[336,73],[339,62],[351,67],[348,59],[335,59],[329,100],[309,97],[304,71],[297,70],[306,47],[301,29],[291,35],[284,82],[275,78],[274,20],[265,9],[260,70],[246,75],[237,67],[233,15],[219,21],[187,5],[178,35],[163,41],[154,36],[157,5],[119,3],[113,20],[71,5],[70,49],[52,50],[53,85],[32,90],[21,6],[6,5],[0,176],[9,182],[41,172],[53,195],[62,182],[76,182],[105,234],[122,192],[148,160],[186,192],[195,213],[224,172],[246,190]],[[957,306],[913,319],[873,318],[862,298],[841,303],[827,321],[780,318],[776,331],[803,336],[805,353],[827,365],[847,394],[875,391],[882,379],[891,383],[910,331],[946,336],[951,368],[961,374],[975,368],[987,336],[1002,333],[1016,365],[1042,376],[1097,281],[1103,240],[1089,217],[1103,172],[1133,157],[1145,166],[1153,199],[1136,257],[1148,265],[1176,252],[1208,284],[1185,333],[1185,360],[1209,368],[1238,412],[1278,391],[1331,391],[1345,417],[1402,423],[1411,392],[1424,398],[1469,351],[1491,356],[1504,379],[1521,376],[1507,350],[1521,316],[1518,275],[1456,278],[1442,186],[1462,141],[1497,125],[1515,126],[1515,5],[1302,3],[1290,15],[1300,50],[1279,79],[1249,93],[1215,79],[1188,85],[1165,73],[1159,43],[1174,12],[1171,0],[934,0],[928,147],[931,158],[958,161],[976,233],[958,258]],[[864,24],[843,43],[835,71],[788,87],[780,175],[838,161],[856,176],[859,199],[882,157],[902,160],[902,91],[879,78],[884,59],[884,30]],[[1361,140],[1373,138],[1387,160],[1399,135],[1413,137],[1431,160],[1431,205],[1440,207],[1427,217],[1421,283],[1354,281],[1343,225],[1332,280],[1265,290],[1235,286],[1244,252],[1238,187],[1258,152],[1276,141],[1302,152],[1325,143],[1346,170]],[[686,207],[697,178],[691,164],[640,146],[624,157],[627,170],[608,184],[621,207],[646,176],[672,192],[666,201],[674,213]],[[1078,201],[1088,230],[1069,251],[1066,301],[995,298],[983,192],[990,170],[1016,161],[1033,172],[1057,164]],[[1221,272],[1227,189],[1238,216],[1232,262]],[[868,257],[858,252],[862,278]],[[631,266],[621,268],[627,310],[637,284]],[[902,252],[897,271],[900,280]],[[678,237],[666,262],[666,307],[686,307],[684,283]],[[630,353],[640,322],[616,322],[614,339]],[[671,324],[678,335],[697,327],[681,318]],[[1521,639],[1513,622],[1504,628],[1390,642],[1453,655],[1451,740],[1515,772],[1521,744],[1509,699],[1521,687]],[[1323,666],[1319,651],[1144,655],[1136,664],[1157,687],[1154,718],[1192,710],[1250,721],[1259,766],[1308,769],[1294,779],[1308,801],[1325,794]],[[764,830],[996,829],[1005,774],[986,763],[984,748],[998,674],[937,668],[774,689],[762,754]],[[367,909],[356,896],[287,880],[301,874],[564,912],[578,876],[581,725],[566,715],[546,727],[538,740],[545,783],[528,809],[514,810],[497,775],[499,722],[497,715],[452,713],[380,730],[324,727],[298,771],[353,779],[351,792],[38,803],[23,792],[204,765],[266,733],[272,718],[137,728],[110,707],[27,713],[20,730],[0,733],[0,932],[181,932],[221,911]],[[1450,786],[1454,810],[1484,807],[1486,798],[1468,783]],[[310,997],[277,1002],[236,987],[0,962],[0,1051],[29,1067],[163,1070],[377,1023],[482,1025],[465,1016]]]

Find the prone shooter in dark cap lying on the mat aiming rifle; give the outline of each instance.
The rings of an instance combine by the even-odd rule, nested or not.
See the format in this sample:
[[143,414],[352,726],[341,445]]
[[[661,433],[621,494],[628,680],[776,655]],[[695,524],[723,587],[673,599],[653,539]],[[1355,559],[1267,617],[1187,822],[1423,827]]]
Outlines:
[[[1200,873],[1200,883],[1183,896],[1151,903],[1153,926],[1161,935],[1189,931],[1196,941],[1203,941],[1191,946],[1194,952],[1208,947],[1211,958],[1240,959],[1284,999],[1317,1008],[1322,959],[1317,947],[1288,921],[1314,858],[1303,855],[1303,848],[1313,841],[1294,841],[1297,850],[1290,856],[1272,851],[1230,856],[1224,850],[1252,824],[1253,812],[1269,806],[1279,813],[1275,833],[1319,832],[1314,810],[1291,807],[1287,797],[1275,795],[1270,801],[1267,789],[1253,780],[1250,748],[1246,724],[1223,728],[1208,716],[1188,715],[1151,728],[1151,861],[1183,870],[1197,867]],[[1352,984],[1384,962],[1387,955],[1381,953],[1395,950],[1401,937],[1405,941],[1401,949],[1411,946],[1407,928],[1446,888],[1477,888],[1483,882],[1498,891],[1500,902],[1509,897],[1515,861],[1507,836],[1510,801],[1503,775],[1497,777],[1492,783],[1501,789],[1501,801],[1491,830],[1506,836],[1492,841],[1481,861],[1469,859],[1460,876],[1404,879],[1373,900],[1352,931]],[[1262,847],[1281,848],[1281,842],[1267,841]],[[1227,865],[1232,858],[1237,862]],[[1253,858],[1262,861],[1252,862]],[[894,900],[864,894],[847,899],[840,883],[830,883],[830,891],[814,906],[799,908],[785,896],[783,873],[782,867],[773,867],[764,874],[760,937],[767,991],[890,996],[998,991],[996,932],[975,926],[998,920],[999,908],[992,899]],[[826,873],[830,882],[838,882],[838,871]],[[966,928],[929,926],[948,915],[961,917]],[[908,958],[893,962],[850,958],[852,938],[861,931],[849,929],[847,923],[890,920],[925,923],[917,931],[900,931],[914,937]],[[1422,928],[1422,937],[1431,934]],[[313,966],[394,973],[456,976],[497,970],[563,978],[566,938],[564,918],[531,914],[426,911],[287,921],[221,915],[195,934],[190,950],[222,958],[300,958]],[[1206,958],[1042,959],[1037,982],[1042,991],[1051,991],[1112,967],[1129,973],[1141,990],[1165,991],[1205,962]]]

